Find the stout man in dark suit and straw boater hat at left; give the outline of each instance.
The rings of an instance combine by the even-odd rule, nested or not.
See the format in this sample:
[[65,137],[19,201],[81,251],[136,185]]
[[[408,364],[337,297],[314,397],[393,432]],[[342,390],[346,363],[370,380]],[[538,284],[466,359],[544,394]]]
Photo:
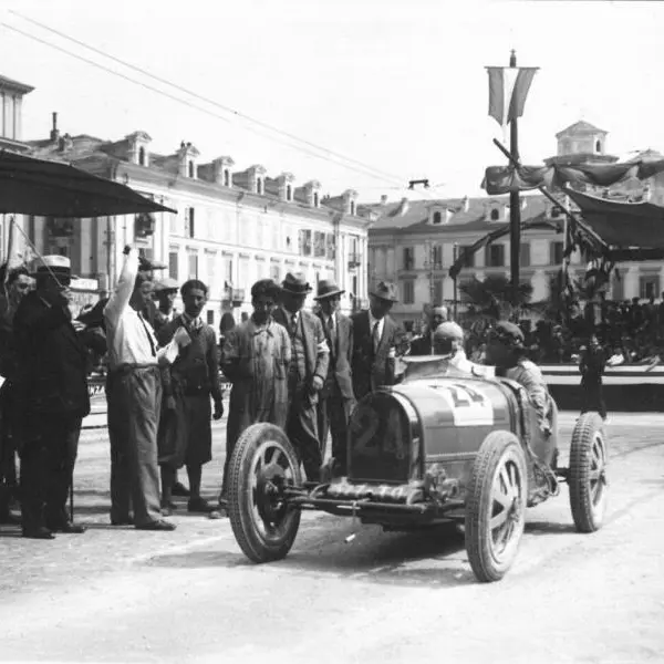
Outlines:
[[66,513],[81,422],[90,413],[86,352],[72,324],[70,281],[69,258],[43,257],[37,290],[23,298],[14,317],[24,423],[23,537],[35,539],[84,531]]

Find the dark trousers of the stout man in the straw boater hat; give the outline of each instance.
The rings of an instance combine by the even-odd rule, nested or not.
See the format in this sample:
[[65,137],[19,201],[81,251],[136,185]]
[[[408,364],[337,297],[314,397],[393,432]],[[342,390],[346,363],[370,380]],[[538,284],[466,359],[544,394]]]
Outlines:
[[21,447],[23,530],[62,527],[81,436],[81,417],[31,414]]

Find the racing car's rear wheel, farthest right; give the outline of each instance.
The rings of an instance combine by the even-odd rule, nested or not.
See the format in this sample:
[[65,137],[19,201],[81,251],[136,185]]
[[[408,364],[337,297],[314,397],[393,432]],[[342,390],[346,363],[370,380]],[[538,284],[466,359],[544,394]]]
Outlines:
[[606,511],[606,463],[609,449],[603,421],[598,413],[583,413],[570,447],[570,507],[579,532],[601,528]]

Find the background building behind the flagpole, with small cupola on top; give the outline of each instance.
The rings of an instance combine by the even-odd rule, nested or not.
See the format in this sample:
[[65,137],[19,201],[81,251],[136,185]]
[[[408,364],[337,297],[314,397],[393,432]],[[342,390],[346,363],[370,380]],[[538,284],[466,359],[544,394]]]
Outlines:
[[[616,160],[605,153],[606,132],[589,123],[577,123],[560,132],[557,138],[558,156],[547,163]],[[645,156],[662,158],[652,151]],[[645,195],[662,205],[664,181],[661,176],[652,179],[645,183]],[[569,201],[564,203],[569,205]],[[425,305],[463,300],[460,284],[475,277],[480,280],[490,274],[510,277],[509,236],[470,257],[456,284],[448,273],[466,247],[509,224],[508,196],[402,199],[393,204],[383,197],[380,204],[366,208],[377,216],[369,232],[370,273],[375,279],[397,283],[400,302],[393,313],[403,323],[417,325]],[[548,298],[551,278],[562,264],[563,219],[561,209],[544,196],[521,197],[521,220],[544,222],[521,235],[521,280],[531,283],[533,302]],[[577,277],[585,272],[585,263],[579,253],[571,257],[570,272]],[[614,274],[609,297],[615,300],[658,297],[663,288],[664,266],[661,261],[630,262],[620,266],[620,278]]]

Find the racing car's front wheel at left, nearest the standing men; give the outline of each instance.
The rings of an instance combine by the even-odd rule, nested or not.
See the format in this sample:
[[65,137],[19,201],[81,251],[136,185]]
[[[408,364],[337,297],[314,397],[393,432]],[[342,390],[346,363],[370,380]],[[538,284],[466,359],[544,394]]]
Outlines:
[[247,428],[234,449],[228,473],[228,516],[235,538],[253,562],[284,558],[300,527],[300,510],[279,487],[301,485],[300,464],[282,429],[259,423]]

